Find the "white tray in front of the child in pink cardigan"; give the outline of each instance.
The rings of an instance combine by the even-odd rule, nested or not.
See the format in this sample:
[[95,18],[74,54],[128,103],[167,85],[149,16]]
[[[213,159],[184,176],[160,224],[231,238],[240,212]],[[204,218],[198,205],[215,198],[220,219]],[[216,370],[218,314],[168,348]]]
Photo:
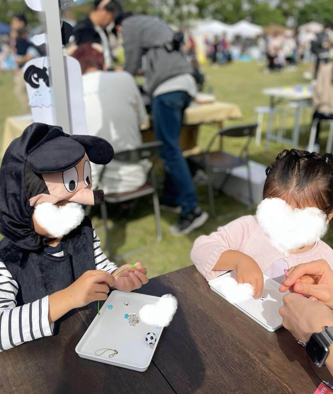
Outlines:
[[[224,276],[231,276],[236,279],[236,271],[231,271],[218,278],[212,279],[208,284],[219,296],[226,299],[223,294],[222,285],[220,284],[221,278]],[[264,275],[264,289],[261,295],[264,297],[264,301],[252,298],[247,301],[233,303],[228,299],[226,300],[266,330],[276,331],[278,328],[282,327],[282,318],[279,314],[279,309],[283,305],[282,298],[284,294],[286,294],[280,293],[279,287],[280,285],[278,282]]]

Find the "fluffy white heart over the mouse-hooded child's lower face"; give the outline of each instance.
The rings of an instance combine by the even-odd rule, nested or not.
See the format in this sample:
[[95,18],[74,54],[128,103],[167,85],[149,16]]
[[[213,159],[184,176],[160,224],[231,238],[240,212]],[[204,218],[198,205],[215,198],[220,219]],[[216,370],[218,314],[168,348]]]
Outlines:
[[42,203],[34,211],[37,223],[54,238],[61,238],[76,229],[84,215],[84,210],[78,203],[67,203],[59,207],[52,203]]

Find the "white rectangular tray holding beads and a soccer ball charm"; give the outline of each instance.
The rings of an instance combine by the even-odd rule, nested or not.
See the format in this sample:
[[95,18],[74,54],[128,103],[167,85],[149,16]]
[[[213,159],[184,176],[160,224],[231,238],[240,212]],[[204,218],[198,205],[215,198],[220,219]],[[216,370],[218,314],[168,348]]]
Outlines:
[[[113,290],[100,309],[100,315],[96,315],[76,345],[76,353],[84,359],[144,372],[152,361],[163,327],[156,328],[155,325],[147,325],[143,322],[132,327],[124,316],[130,313],[139,316],[139,310],[144,305],[154,304],[159,298]],[[128,306],[124,303],[128,303]],[[113,308],[108,309],[108,305],[112,305]],[[151,332],[156,335],[153,349],[145,341],[146,334]],[[112,359],[109,358],[112,351],[96,356],[95,351],[102,348],[116,349],[118,354]]]

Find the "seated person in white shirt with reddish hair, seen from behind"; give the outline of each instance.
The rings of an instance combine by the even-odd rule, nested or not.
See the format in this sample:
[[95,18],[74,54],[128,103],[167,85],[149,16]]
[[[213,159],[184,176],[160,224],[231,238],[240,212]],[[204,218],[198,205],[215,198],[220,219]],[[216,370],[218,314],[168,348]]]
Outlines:
[[[88,132],[112,143],[115,153],[142,144],[140,127],[148,116],[135,79],[126,71],[104,71],[103,54],[97,44],[82,44],[72,53],[83,74],[83,94]],[[92,164],[92,184],[98,185],[103,167]],[[146,183],[149,163],[107,164],[99,187],[105,194],[125,193]]]

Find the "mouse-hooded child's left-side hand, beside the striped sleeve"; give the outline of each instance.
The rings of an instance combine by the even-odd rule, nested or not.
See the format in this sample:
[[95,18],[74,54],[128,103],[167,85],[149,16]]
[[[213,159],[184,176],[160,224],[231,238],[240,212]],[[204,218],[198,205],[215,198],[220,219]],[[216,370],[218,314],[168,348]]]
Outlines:
[[68,301],[72,308],[80,308],[98,300],[107,299],[110,287],[113,287],[115,278],[108,272],[93,269],[83,273],[79,279],[68,286]]

